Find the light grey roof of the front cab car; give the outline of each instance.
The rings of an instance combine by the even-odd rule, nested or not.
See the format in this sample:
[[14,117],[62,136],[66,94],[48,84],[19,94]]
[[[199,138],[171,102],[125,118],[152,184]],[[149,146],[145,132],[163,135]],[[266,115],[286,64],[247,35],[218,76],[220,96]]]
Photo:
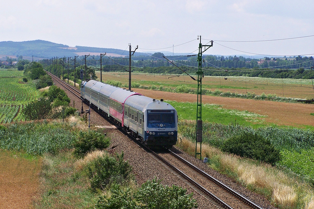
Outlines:
[[172,107],[170,104],[167,102],[161,102],[159,100],[153,101],[152,98],[150,97],[145,97],[145,96],[132,96],[128,97],[127,100],[125,101],[125,104],[133,107],[137,110],[141,110],[144,112],[145,110],[175,110],[174,107]]

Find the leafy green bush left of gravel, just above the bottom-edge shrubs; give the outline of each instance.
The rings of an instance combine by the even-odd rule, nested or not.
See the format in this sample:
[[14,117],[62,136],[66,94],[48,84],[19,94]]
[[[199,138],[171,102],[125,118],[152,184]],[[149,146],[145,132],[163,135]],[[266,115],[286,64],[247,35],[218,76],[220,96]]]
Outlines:
[[104,155],[95,159],[88,166],[90,186],[94,190],[104,190],[111,183],[123,184],[131,178],[132,168],[123,160],[123,152],[116,157]]

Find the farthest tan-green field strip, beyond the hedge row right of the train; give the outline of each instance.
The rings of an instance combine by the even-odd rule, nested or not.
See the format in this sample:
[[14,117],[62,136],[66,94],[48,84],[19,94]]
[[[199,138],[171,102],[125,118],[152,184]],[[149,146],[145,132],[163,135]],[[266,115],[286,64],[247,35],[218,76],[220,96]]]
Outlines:
[[[96,71],[96,76],[100,80],[100,71]],[[194,76],[196,77],[196,76]],[[128,85],[127,72],[103,72],[103,81],[120,81],[123,85]],[[227,80],[225,80],[227,78]],[[160,75],[148,73],[132,73],[132,82],[142,86],[172,87],[186,85],[190,88],[197,88],[197,81],[193,81],[189,76]],[[204,76],[202,88],[215,91],[221,91],[238,94],[247,92],[261,95],[262,93],[276,94],[279,97],[293,97],[300,99],[313,98],[313,87],[310,79],[279,79],[262,77],[222,77],[222,76]]]

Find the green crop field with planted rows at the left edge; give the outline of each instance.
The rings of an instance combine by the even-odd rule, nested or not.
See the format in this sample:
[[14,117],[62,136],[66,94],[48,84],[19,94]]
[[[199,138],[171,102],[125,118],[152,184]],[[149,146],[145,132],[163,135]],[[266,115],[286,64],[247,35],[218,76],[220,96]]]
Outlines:
[[39,98],[39,91],[22,77],[23,71],[0,71],[0,123],[23,121],[24,105]]

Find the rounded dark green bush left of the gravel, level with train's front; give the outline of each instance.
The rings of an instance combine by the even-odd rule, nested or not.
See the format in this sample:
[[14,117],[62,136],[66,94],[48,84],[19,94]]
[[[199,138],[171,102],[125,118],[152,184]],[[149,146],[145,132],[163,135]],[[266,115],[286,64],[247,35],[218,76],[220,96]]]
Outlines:
[[86,153],[97,149],[106,149],[110,144],[110,138],[105,138],[103,134],[89,130],[79,132],[79,140],[74,144],[74,154],[83,157]]

